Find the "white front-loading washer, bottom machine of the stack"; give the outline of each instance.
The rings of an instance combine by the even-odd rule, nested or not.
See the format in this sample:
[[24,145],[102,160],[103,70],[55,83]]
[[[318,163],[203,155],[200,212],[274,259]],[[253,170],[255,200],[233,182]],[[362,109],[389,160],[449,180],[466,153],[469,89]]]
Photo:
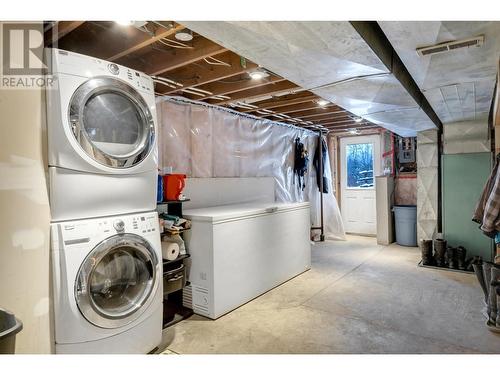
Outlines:
[[51,224],[56,353],[148,353],[161,342],[156,212]]

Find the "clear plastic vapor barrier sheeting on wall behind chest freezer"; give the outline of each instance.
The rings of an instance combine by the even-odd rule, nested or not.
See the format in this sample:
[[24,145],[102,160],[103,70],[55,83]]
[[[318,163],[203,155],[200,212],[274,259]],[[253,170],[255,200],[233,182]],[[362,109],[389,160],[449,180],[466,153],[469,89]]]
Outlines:
[[[179,97],[159,97],[157,109],[160,168],[171,166],[188,177],[274,177],[276,201],[309,201],[311,224],[319,225],[320,193],[312,165],[317,133]],[[309,153],[303,191],[293,173],[296,137]],[[329,160],[325,175],[325,237],[345,239]]]

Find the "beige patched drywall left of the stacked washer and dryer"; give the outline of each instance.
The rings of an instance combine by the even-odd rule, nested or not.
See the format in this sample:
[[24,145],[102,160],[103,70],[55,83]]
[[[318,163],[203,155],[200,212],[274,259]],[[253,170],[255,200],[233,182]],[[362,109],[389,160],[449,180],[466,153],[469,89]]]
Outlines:
[[42,95],[0,88],[0,307],[23,321],[18,353],[52,351]]

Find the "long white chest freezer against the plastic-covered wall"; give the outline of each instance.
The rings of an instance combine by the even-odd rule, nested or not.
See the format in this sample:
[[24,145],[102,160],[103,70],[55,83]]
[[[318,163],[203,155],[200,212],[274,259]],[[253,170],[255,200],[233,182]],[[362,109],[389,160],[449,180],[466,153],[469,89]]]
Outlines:
[[191,268],[184,304],[216,319],[311,268],[309,203],[184,211]]

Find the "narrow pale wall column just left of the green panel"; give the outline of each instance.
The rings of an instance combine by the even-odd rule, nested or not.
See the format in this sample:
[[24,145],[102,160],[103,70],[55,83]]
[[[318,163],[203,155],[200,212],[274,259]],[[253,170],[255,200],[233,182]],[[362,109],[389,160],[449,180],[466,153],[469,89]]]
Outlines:
[[437,229],[437,130],[417,134],[417,239],[432,239]]

